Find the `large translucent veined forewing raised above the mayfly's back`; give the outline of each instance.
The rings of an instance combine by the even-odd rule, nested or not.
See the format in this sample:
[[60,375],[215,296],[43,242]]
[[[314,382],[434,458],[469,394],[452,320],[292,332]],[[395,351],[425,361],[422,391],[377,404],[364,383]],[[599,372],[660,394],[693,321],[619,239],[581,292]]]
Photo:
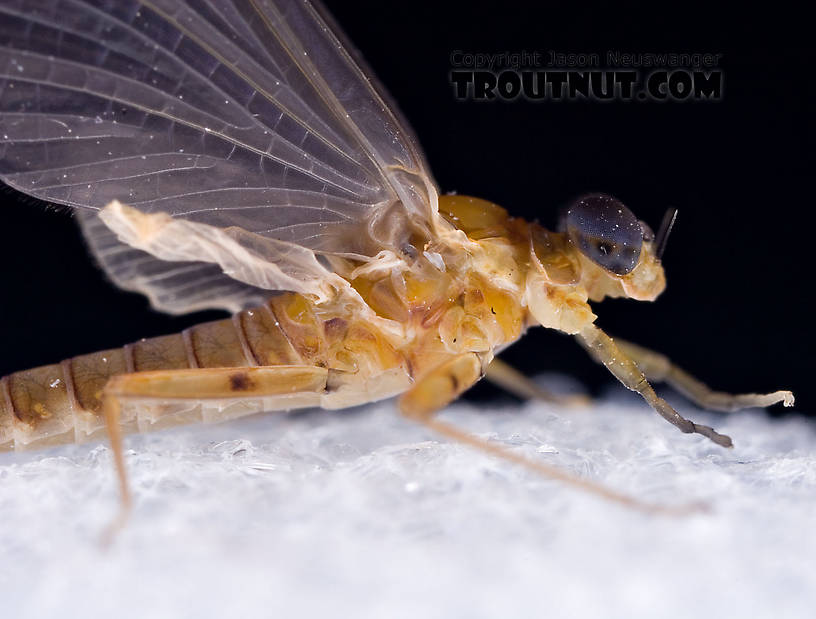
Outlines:
[[[434,225],[436,190],[338,36],[305,0],[0,0],[0,177],[70,206],[241,228],[272,241],[284,275],[323,274],[281,243],[396,250]],[[139,288],[130,272],[114,280]]]

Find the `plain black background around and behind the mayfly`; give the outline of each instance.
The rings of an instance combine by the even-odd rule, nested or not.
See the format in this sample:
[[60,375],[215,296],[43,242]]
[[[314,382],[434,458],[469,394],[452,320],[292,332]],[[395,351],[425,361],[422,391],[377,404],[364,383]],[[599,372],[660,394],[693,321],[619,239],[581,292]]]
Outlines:
[[[564,3],[560,3],[563,5]],[[717,388],[789,388],[816,410],[808,38],[796,15],[666,5],[331,2],[414,127],[443,191],[495,201],[552,226],[589,191],[615,195],[657,227],[680,209],[655,303],[605,301],[598,324],[670,355]],[[720,102],[457,101],[454,50],[723,54]],[[0,375],[180,330],[218,316],[168,317],[118,292],[73,221],[0,194]],[[611,380],[566,336],[531,331],[504,354],[527,373]],[[483,399],[498,392],[478,386]]]

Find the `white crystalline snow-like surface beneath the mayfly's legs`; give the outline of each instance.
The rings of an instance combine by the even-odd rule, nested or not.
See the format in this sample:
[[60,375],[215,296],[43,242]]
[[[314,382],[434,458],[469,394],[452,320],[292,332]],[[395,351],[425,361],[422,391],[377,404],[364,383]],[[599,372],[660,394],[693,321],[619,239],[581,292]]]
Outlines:
[[127,440],[136,509],[105,446],[0,455],[3,617],[813,617],[816,428],[634,397],[444,414],[480,436],[654,501],[644,515],[437,440],[392,403]]

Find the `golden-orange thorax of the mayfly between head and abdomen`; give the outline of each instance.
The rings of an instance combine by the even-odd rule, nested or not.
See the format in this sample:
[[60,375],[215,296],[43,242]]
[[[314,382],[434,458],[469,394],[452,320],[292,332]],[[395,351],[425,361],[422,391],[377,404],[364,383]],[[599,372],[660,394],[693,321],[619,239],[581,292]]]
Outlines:
[[[335,336],[339,356],[330,355],[330,367],[352,369],[360,363],[355,354],[372,358],[385,343],[389,362],[392,353],[404,358],[414,377],[452,354],[489,361],[528,326],[577,333],[595,320],[590,299],[626,293],[622,278],[583,260],[565,235],[495,204],[442,196],[439,213],[440,229],[429,240],[337,269],[356,301],[341,295],[315,308],[326,338]],[[338,335],[352,324],[357,335]],[[360,335],[366,331],[371,335]],[[364,344],[372,338],[380,344]]]

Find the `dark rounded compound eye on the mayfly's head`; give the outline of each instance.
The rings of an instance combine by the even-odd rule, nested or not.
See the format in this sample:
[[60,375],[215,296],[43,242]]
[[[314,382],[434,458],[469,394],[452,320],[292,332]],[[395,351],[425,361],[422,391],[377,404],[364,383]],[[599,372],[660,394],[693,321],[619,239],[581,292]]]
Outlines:
[[602,193],[576,200],[562,222],[587,258],[616,275],[631,272],[640,259],[643,228],[622,202]]

